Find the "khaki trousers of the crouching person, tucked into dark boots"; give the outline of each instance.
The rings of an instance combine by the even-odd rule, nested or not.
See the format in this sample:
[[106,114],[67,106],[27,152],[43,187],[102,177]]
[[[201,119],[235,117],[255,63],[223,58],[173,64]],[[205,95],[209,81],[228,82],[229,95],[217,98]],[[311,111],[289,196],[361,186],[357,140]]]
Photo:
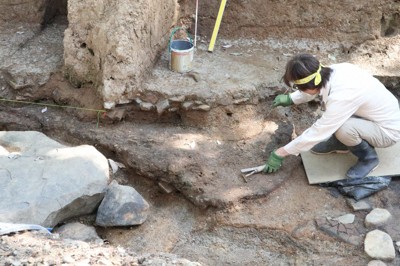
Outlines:
[[346,146],[356,146],[366,140],[371,146],[385,148],[396,142],[372,121],[350,117],[335,133],[336,138]]

